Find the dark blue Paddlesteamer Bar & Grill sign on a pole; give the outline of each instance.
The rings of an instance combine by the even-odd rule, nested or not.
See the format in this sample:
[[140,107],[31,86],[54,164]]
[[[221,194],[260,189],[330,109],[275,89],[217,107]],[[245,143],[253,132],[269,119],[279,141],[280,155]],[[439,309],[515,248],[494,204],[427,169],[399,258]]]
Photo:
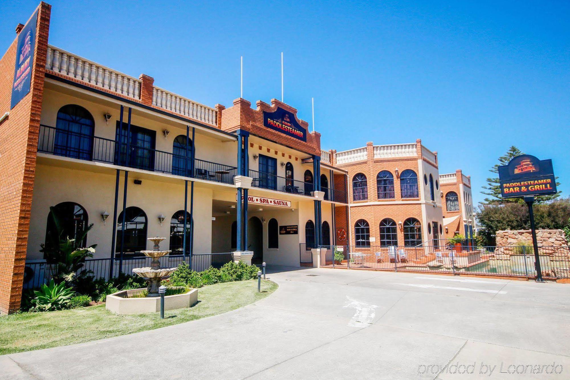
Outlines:
[[556,177],[552,168],[552,160],[539,160],[531,155],[516,156],[507,165],[499,166],[499,181],[503,198],[522,197],[528,205],[532,245],[535,253],[536,281],[544,282],[540,269],[532,204],[536,195],[556,194]]

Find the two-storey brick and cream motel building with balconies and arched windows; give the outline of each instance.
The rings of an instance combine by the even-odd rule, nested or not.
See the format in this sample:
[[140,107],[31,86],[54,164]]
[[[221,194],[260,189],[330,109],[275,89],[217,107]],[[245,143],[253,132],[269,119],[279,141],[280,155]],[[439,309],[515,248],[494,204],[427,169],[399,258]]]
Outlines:
[[[51,6],[36,13],[0,60],[0,312],[19,308],[26,262],[44,259],[50,207],[68,236],[93,224],[84,244],[97,244],[109,275],[128,272],[153,236],[195,265],[227,253],[300,266],[315,245],[453,235],[437,196],[450,182],[420,140],[321,151],[319,132],[288,104],[205,106],[49,45]],[[30,91],[11,104],[22,30],[35,32]],[[470,181],[455,192],[470,199]],[[461,212],[457,223],[472,216]]]

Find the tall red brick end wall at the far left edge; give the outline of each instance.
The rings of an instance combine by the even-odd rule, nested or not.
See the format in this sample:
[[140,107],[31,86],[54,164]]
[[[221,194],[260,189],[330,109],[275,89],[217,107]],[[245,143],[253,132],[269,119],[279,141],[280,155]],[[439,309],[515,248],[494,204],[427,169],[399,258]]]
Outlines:
[[16,38],[0,59],[0,313],[19,309],[42,112],[51,6],[38,6],[30,93],[10,110]]

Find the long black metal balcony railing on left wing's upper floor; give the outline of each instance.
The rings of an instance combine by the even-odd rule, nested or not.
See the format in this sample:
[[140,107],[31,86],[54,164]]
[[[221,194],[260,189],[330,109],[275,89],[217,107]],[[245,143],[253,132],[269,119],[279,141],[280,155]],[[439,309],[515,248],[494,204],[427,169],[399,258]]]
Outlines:
[[115,140],[43,124],[40,125],[38,152],[226,184],[233,184],[237,174],[236,167],[200,159],[194,159],[192,173],[190,157],[138,145],[119,144]]

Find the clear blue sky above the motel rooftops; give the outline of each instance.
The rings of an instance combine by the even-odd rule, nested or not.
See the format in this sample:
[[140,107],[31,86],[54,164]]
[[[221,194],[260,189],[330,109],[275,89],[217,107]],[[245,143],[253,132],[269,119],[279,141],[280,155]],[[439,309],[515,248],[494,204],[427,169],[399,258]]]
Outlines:
[[[50,43],[213,106],[279,98],[323,149],[422,139],[473,197],[514,144],[570,195],[569,2],[48,1]],[[0,3],[4,51],[38,1]]]

